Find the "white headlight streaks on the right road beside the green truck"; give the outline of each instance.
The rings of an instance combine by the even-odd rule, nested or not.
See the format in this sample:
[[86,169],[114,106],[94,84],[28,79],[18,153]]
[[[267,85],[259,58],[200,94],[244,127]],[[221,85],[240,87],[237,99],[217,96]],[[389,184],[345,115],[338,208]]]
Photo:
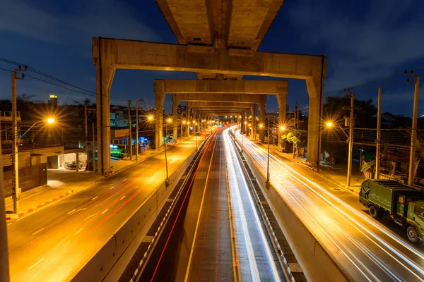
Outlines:
[[[237,137],[240,137],[240,133],[237,133]],[[262,149],[261,147],[253,144],[252,142],[245,142],[245,149],[247,149],[250,152],[251,156],[254,157],[254,159],[257,161],[257,164],[259,164],[259,166],[261,166],[263,169],[265,169],[264,162],[266,161],[266,153],[265,153],[264,149]],[[382,251],[384,251],[385,253],[387,253],[387,255],[389,255],[391,258],[393,258],[396,262],[398,262],[399,264],[401,264],[401,266],[403,266],[405,269],[407,269],[411,274],[413,274],[414,276],[416,276],[417,278],[419,278],[420,281],[423,281],[423,278],[421,278],[420,276],[418,276],[410,268],[408,268],[405,264],[403,264],[402,262],[400,262],[398,258],[394,257],[394,255],[391,255],[387,250],[384,250],[384,246],[387,247],[387,249],[391,250],[391,252],[394,252],[394,254],[396,256],[400,257],[408,265],[412,266],[413,269],[416,269],[419,272],[419,274],[424,274],[424,271],[423,271],[423,269],[420,268],[420,266],[416,265],[414,262],[411,262],[411,260],[408,259],[408,257],[406,257],[404,254],[402,254],[398,250],[396,250],[393,246],[391,246],[388,243],[384,242],[384,240],[382,240],[382,238],[379,238],[375,233],[372,233],[372,231],[370,231],[365,226],[363,226],[363,224],[361,224],[358,221],[356,221],[355,219],[353,219],[353,217],[351,215],[347,214],[346,212],[343,212],[343,210],[340,209],[339,207],[337,207],[333,202],[330,202],[330,199],[331,200],[336,200],[336,202],[338,204],[341,204],[341,205],[343,205],[343,207],[345,207],[346,209],[350,210],[353,215],[360,217],[360,219],[363,219],[365,222],[370,223],[375,228],[378,228],[384,234],[386,234],[387,236],[389,236],[390,238],[392,238],[393,240],[395,240],[397,243],[399,243],[400,245],[406,247],[406,249],[410,250],[415,255],[417,255],[418,257],[420,257],[420,259],[424,259],[424,256],[423,256],[423,253],[422,252],[420,252],[419,250],[416,250],[415,248],[411,247],[410,245],[407,245],[406,243],[404,243],[403,240],[397,238],[396,235],[394,235],[391,232],[387,231],[385,228],[381,228],[381,226],[377,225],[377,223],[372,222],[372,220],[368,219],[365,215],[360,214],[358,211],[356,211],[355,209],[353,209],[353,207],[350,207],[348,204],[346,204],[342,200],[338,199],[338,197],[336,197],[334,195],[331,195],[330,192],[328,192],[327,190],[325,190],[324,188],[322,188],[321,186],[319,186],[317,183],[314,183],[312,180],[309,180],[305,176],[300,175],[300,173],[298,173],[297,171],[295,171],[293,168],[291,168],[287,164],[284,164],[283,161],[281,161],[280,159],[278,159],[278,158],[276,158],[276,157],[274,157],[272,155],[270,155],[270,158],[271,158],[271,161],[272,161],[271,162],[271,169],[273,169],[273,171],[276,172],[275,174],[273,173],[274,175],[276,175],[276,174],[278,175],[278,173],[281,174],[283,172],[286,172],[286,173],[288,173],[288,175],[290,175],[291,177],[295,178],[295,180],[297,180],[299,183],[301,183],[302,185],[305,185],[305,187],[307,189],[309,189],[315,195],[317,195],[317,197],[319,197],[323,202],[326,202],[327,204],[329,204],[330,207],[334,207],[334,209],[336,211],[340,212],[340,214],[343,214],[344,217],[342,216],[342,218],[346,222],[351,223],[351,224],[352,223],[355,223],[358,227],[362,228],[363,231],[365,231],[365,233],[368,233],[372,238],[375,238],[375,240],[379,241],[379,243],[381,243],[381,245],[379,243],[377,243],[375,240],[372,240],[372,238],[370,238],[370,236],[366,235],[357,226],[355,226],[354,224],[352,224],[355,227],[356,230],[358,230],[360,233],[362,233],[365,236],[365,238],[367,238],[372,243],[374,243],[375,245],[377,245],[377,247],[379,247]],[[277,170],[276,168],[274,168],[273,167],[274,165],[276,165],[277,167],[281,168],[281,170]],[[290,173],[289,171],[291,171],[293,173]],[[303,182],[302,180],[300,180],[295,175],[296,176],[299,176],[302,179],[304,179],[306,182],[311,183],[312,185],[314,185],[320,192],[323,192],[324,195],[320,194],[316,189],[310,187],[310,185],[307,185],[307,183]],[[274,177],[272,177],[272,178],[273,178],[273,181],[272,182],[275,182],[276,178],[274,178]],[[290,185],[290,187],[295,188],[295,186],[293,186],[293,185]],[[278,188],[283,188],[283,187],[278,187]],[[299,189],[292,189],[292,190],[295,190],[295,191],[297,190],[298,192],[300,192],[300,193],[303,194],[303,192],[301,192]],[[291,194],[291,192],[292,192],[291,190],[289,191],[288,189],[283,189],[280,192],[290,193],[289,196],[293,199],[293,201],[296,202],[296,204],[298,204],[300,206],[300,203],[298,202],[298,200],[295,200],[293,198],[294,196],[293,196],[293,194]],[[305,200],[307,200],[308,202],[312,202],[310,199],[307,199],[308,198],[307,195],[304,194],[304,195],[302,195],[302,197],[305,198]],[[316,203],[313,203],[312,202],[312,206],[315,209],[319,209],[319,207],[317,207]],[[303,207],[301,207],[301,208],[303,209]],[[303,210],[305,211],[305,209],[303,209]],[[348,219],[351,220],[351,221],[353,221],[353,222],[348,221]],[[362,245],[361,243],[358,242],[358,240],[353,240],[353,238],[351,236],[348,236],[348,238],[351,238],[352,241],[355,241],[355,245],[357,245],[357,244]],[[366,247],[360,247],[360,250],[363,250],[363,252],[367,256],[371,255],[371,252],[369,250],[367,250]],[[346,255],[346,253],[344,253],[344,252],[343,252],[343,254]],[[392,271],[390,271],[390,269],[389,269],[389,267],[387,265],[384,265],[384,262],[382,262],[381,259],[377,258],[375,255],[372,255],[372,257],[374,258],[373,261],[376,262],[376,264],[379,265],[379,267],[382,270],[384,270],[384,272],[386,272],[386,273],[389,272],[389,274],[391,274],[393,276],[395,275],[395,274],[393,274]],[[355,265],[355,266],[358,267],[357,265]]]

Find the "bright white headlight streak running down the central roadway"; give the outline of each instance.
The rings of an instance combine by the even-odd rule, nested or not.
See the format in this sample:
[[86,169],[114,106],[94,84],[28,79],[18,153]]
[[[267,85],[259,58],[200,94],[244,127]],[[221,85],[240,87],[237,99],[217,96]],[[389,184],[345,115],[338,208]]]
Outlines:
[[[276,264],[275,264],[275,261],[273,259],[273,255],[271,253],[271,250],[270,250],[268,241],[266,240],[266,235],[265,235],[265,232],[264,232],[264,228],[262,227],[261,221],[259,219],[259,215],[257,214],[257,210],[255,209],[254,201],[252,199],[252,195],[250,195],[250,192],[248,191],[248,188],[247,188],[248,185],[247,185],[245,176],[242,173],[242,168],[240,166],[240,163],[237,160],[237,155],[236,155],[236,152],[235,152],[235,148],[233,147],[232,141],[230,140],[230,137],[228,135],[228,131],[229,131],[229,129],[226,129],[223,132],[224,143],[225,143],[225,150],[227,151],[226,157],[228,159],[228,164],[229,164],[228,167],[231,169],[232,173],[234,173],[233,176],[236,176],[237,174],[235,174],[235,166],[234,166],[234,164],[237,166],[238,175],[240,175],[240,178],[242,178],[242,182],[243,182],[244,188],[247,190],[247,195],[248,195],[248,198],[249,198],[250,205],[252,207],[252,211],[253,211],[253,214],[254,214],[254,219],[255,219],[257,228],[259,230],[262,247],[263,247],[263,249],[264,249],[264,251],[266,253],[266,259],[269,262],[269,266],[271,267],[271,272],[273,274],[273,279],[274,279],[273,281],[281,281],[281,278],[280,278],[280,276],[278,274],[278,270],[276,268]],[[233,161],[233,160],[235,160],[235,161]],[[229,175],[230,175],[230,173],[229,173]],[[239,207],[240,207],[240,214],[242,214],[242,218],[244,220],[246,220],[245,211],[244,211],[244,208],[243,208],[243,203],[242,203],[242,200],[241,200],[241,195],[240,195],[240,190],[239,190],[240,189],[240,185],[238,185],[238,183],[237,183],[238,181],[237,181],[237,178],[236,177],[234,177],[234,180],[235,180],[235,184],[236,185],[234,187],[232,187],[232,190],[235,190],[235,192],[237,194],[237,202],[238,202]],[[247,228],[247,225],[245,225],[244,227]],[[249,233],[248,229],[246,229],[246,231],[247,231],[247,233]],[[250,243],[249,245],[252,245],[252,244]],[[258,280],[257,281],[260,281],[259,274],[258,274]]]

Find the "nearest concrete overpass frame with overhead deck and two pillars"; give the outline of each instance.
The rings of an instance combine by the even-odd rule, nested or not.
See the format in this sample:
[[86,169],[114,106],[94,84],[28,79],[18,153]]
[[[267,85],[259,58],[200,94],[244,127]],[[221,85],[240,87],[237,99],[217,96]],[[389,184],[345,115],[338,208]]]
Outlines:
[[[257,51],[283,0],[158,0],[157,3],[179,44],[93,38],[101,170],[110,167],[107,142],[110,140],[110,86],[117,68],[191,71],[198,78],[211,81],[240,80],[242,75],[305,80],[310,95],[307,158],[312,164],[318,164],[326,57]],[[222,90],[223,86],[215,91],[218,94]],[[156,109],[161,109],[167,90],[157,89],[155,85],[155,92]],[[278,99],[278,103],[281,102]],[[161,144],[162,111],[157,114],[156,139]]]

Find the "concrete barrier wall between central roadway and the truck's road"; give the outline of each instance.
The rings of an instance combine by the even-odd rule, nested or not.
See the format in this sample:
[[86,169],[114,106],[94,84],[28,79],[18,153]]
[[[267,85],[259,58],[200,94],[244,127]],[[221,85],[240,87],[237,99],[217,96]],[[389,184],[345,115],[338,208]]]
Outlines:
[[[240,144],[240,142],[238,143]],[[314,235],[290,209],[273,185],[266,183],[266,177],[252,163],[249,154],[244,153],[244,155],[307,280],[314,282],[353,281],[354,279],[347,274],[343,266],[339,265],[336,259],[331,257],[321,243],[314,238]]]

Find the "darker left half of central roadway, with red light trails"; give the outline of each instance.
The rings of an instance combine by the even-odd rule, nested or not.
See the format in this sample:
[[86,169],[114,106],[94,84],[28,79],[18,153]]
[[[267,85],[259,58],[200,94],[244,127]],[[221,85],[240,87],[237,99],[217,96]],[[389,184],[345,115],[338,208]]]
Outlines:
[[216,129],[137,281],[232,280],[226,188],[223,139]]

